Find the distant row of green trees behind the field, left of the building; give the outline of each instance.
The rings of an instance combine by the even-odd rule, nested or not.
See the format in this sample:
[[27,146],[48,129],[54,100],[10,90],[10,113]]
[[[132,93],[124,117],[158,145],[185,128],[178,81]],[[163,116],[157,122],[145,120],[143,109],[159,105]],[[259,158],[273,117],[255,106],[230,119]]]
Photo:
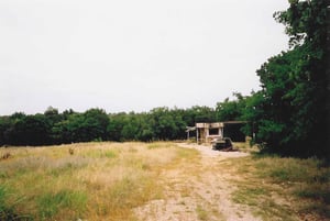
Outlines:
[[0,145],[51,145],[89,141],[158,141],[186,137],[186,126],[221,120],[217,109],[155,108],[148,112],[84,113],[50,107],[44,113],[0,117]]

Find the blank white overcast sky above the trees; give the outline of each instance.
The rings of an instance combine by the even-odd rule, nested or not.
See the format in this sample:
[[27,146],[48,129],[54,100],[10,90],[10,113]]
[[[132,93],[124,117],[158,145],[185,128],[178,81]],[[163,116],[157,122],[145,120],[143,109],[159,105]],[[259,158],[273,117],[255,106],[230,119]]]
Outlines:
[[215,107],[287,48],[287,0],[1,0],[0,115]]

